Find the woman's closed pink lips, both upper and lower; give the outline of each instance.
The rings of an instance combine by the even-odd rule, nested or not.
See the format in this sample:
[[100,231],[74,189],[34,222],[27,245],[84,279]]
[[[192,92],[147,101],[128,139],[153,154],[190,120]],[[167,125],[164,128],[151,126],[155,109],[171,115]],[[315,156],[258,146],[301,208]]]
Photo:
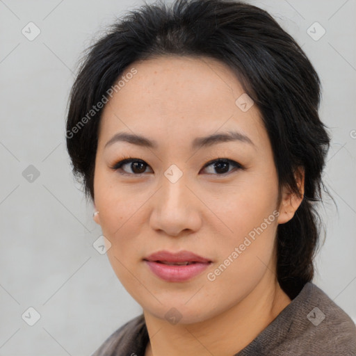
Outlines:
[[[144,259],[150,270],[163,280],[168,282],[184,282],[199,275],[202,271],[211,264],[209,259],[198,256],[193,252],[180,251],[177,253],[171,253],[168,251],[159,251],[154,254],[150,254],[149,257]],[[190,265],[174,266],[168,264],[162,264],[160,261],[168,263],[177,262],[194,262]]]

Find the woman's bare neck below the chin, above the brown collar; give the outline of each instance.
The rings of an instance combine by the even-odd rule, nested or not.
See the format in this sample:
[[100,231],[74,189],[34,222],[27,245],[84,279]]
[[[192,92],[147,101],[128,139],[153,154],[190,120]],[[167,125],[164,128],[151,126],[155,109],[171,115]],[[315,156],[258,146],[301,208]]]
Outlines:
[[150,339],[145,356],[238,353],[291,302],[275,275],[266,275],[238,304],[199,323],[171,325],[144,311]]

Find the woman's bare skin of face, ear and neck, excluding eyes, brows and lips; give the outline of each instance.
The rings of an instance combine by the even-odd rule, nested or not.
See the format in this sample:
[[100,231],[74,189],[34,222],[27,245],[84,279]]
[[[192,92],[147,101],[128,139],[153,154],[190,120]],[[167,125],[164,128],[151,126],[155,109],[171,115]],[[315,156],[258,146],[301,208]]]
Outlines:
[[[229,67],[211,58],[177,56],[132,67],[137,74],[106,104],[99,127],[95,221],[111,242],[108,259],[143,307],[150,337],[145,355],[233,355],[291,302],[277,282],[275,235],[302,197],[284,188],[277,204],[266,129],[255,105],[246,112],[236,106],[244,90]],[[191,149],[194,138],[230,129],[253,145],[231,141]],[[156,140],[158,147],[116,142],[104,148],[122,131]],[[126,156],[145,165],[111,168]],[[204,168],[218,158],[244,169],[228,165],[222,175],[214,164]],[[175,183],[164,175],[172,164],[183,173]],[[304,193],[304,179],[299,183]],[[273,211],[279,216],[223,273],[208,280],[207,274]],[[143,261],[158,250],[189,250],[213,263],[187,282],[166,282]],[[172,307],[181,315],[175,325],[165,318]]]

